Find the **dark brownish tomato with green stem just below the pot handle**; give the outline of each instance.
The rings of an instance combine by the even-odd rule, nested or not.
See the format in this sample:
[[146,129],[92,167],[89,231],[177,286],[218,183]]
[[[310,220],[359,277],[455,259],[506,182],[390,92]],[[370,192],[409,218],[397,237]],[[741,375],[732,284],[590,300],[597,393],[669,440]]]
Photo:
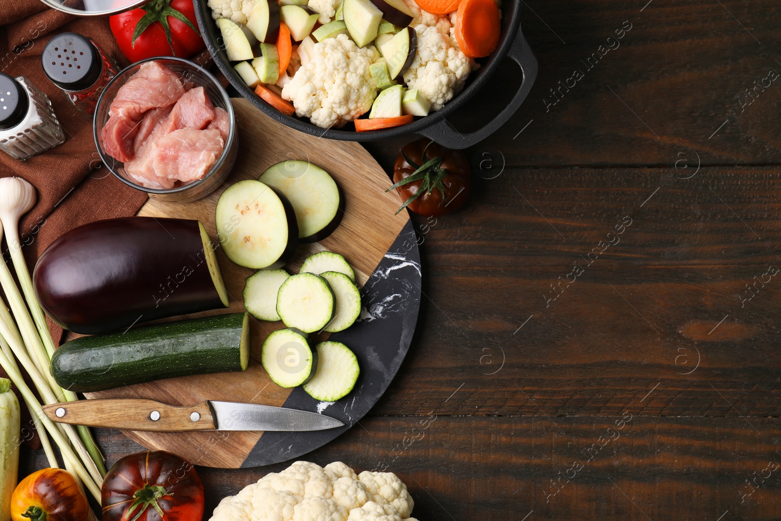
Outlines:
[[[420,139],[401,148],[393,167],[394,185],[409,208],[422,216],[444,216],[469,197],[472,168],[464,152]],[[398,213],[396,212],[396,213]]]

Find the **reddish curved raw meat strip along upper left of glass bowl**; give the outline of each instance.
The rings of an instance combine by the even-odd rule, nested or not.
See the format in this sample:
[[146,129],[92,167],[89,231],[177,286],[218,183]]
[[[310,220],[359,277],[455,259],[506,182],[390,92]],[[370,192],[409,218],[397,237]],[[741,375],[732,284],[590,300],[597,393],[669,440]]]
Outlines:
[[141,69],[119,87],[111,102],[109,120],[101,130],[105,152],[122,162],[133,159],[134,138],[140,130],[144,112],[173,105],[183,94],[182,82],[173,70],[158,62],[141,65]]

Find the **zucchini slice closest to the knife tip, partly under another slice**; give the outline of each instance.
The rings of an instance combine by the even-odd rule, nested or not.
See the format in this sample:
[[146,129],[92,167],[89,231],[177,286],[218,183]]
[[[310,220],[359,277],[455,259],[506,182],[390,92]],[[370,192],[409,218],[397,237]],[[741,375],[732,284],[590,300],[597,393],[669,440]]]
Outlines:
[[320,342],[315,348],[317,370],[312,380],[304,384],[304,391],[319,401],[344,398],[355,387],[361,373],[355,353],[341,342]]

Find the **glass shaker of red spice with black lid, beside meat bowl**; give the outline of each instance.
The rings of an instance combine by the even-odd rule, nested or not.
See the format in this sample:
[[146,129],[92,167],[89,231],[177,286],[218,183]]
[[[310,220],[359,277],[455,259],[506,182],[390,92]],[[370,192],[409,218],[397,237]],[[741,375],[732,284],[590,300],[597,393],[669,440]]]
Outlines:
[[119,70],[95,41],[76,33],[53,37],[44,48],[41,64],[48,79],[87,116],[95,114],[103,88]]

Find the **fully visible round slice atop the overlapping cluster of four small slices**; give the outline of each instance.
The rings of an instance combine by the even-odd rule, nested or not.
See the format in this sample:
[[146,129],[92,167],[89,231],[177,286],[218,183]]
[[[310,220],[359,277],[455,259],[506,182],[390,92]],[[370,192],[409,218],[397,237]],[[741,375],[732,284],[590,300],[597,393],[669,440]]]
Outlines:
[[298,273],[285,280],[276,295],[276,312],[287,327],[314,333],[333,319],[333,291],[323,277]]

